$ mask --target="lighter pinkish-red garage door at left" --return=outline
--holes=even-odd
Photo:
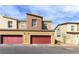
[[[11,35],[11,36],[3,36],[3,44],[21,44],[22,36],[20,35]]]

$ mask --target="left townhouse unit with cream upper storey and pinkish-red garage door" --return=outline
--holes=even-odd
[[[0,15],[0,43],[22,43],[22,33],[18,34],[18,20]]]

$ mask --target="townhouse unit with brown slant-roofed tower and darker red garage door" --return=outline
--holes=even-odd
[[[43,21],[43,17],[27,13],[26,26],[31,44],[54,44],[54,32],[51,21]],[[27,33],[26,33],[27,34]]]

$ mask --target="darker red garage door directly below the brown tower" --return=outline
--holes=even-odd
[[[32,44],[50,44],[51,36],[31,36]]]

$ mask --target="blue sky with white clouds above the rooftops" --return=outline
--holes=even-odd
[[[52,27],[64,22],[79,22],[77,5],[0,5],[0,14],[26,20],[26,13],[34,13],[51,20]]]

